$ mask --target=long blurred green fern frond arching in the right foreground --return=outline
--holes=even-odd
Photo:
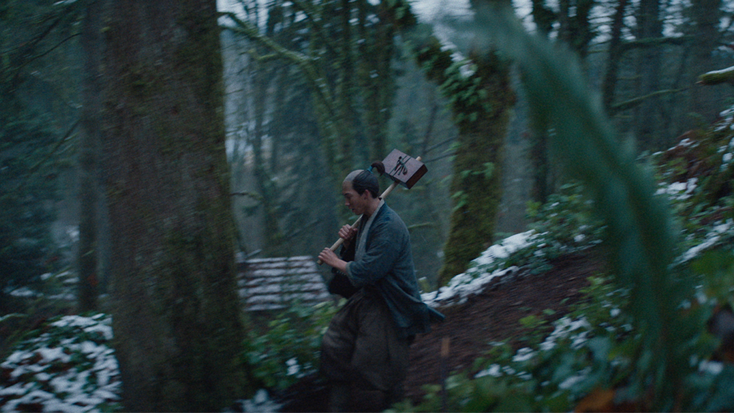
[[[694,279],[669,271],[679,233],[669,205],[654,195],[650,170],[617,139],[570,51],[528,35],[512,10],[498,4],[477,7],[476,24],[517,62],[534,126],[551,132],[552,150],[584,183],[606,223],[616,280],[630,291],[629,312],[642,337],[628,398],[644,401],[644,409],[674,409],[686,397],[684,378],[695,370],[690,357],[702,323],[699,312],[680,312],[694,295]]]

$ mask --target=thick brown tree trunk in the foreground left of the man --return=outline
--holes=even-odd
[[[131,412],[246,390],[214,0],[111,5],[104,145],[112,313]]]

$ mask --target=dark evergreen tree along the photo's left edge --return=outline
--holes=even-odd
[[[8,293],[40,287],[62,260],[51,237],[57,178],[76,130],[62,96],[76,4],[0,4],[0,310],[21,308]],[[65,67],[66,65],[63,65]],[[68,76],[69,77],[73,76]]]

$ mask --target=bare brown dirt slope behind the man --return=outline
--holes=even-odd
[[[601,273],[606,262],[596,254],[586,253],[564,256],[552,265],[551,270],[539,275],[519,271],[509,280],[495,278],[465,303],[437,308],[446,315],[446,320],[434,324],[430,333],[416,337],[413,342],[405,381],[406,397],[414,404],[420,403],[425,395],[424,386],[440,384],[442,376],[448,373],[471,369],[474,360],[485,356],[494,347],[493,343],[507,342],[517,350],[526,347],[531,335],[550,334],[551,322],[570,312],[571,306],[584,298],[581,290],[589,285],[588,278]],[[520,323],[528,315],[548,323],[528,330]],[[442,342],[446,338],[448,356],[442,357]],[[308,383],[301,385],[307,387]],[[290,400],[283,406],[283,412],[323,411],[320,406],[323,392],[292,390],[296,391],[286,396]]]

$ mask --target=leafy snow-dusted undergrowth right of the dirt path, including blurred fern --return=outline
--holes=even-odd
[[[476,262],[487,267],[473,272],[522,262],[542,271],[546,257],[597,241],[610,251],[611,272],[591,280],[589,300],[556,320],[545,341],[517,353],[498,346],[473,370],[451,375],[445,393],[429,388],[423,403],[396,410],[733,409],[734,368],[712,361],[719,339],[706,328],[734,287],[733,121],[701,132],[678,153],[636,162],[579,80],[573,56],[528,35],[509,10],[479,9],[481,27],[469,30],[490,32],[516,60],[535,126],[553,131],[551,147],[581,186],[531,205],[536,233],[511,257]],[[686,147],[695,156],[686,157]],[[688,175],[696,170],[689,162],[701,166],[697,175]],[[578,213],[586,210],[593,214]],[[577,237],[575,229],[586,233]]]

